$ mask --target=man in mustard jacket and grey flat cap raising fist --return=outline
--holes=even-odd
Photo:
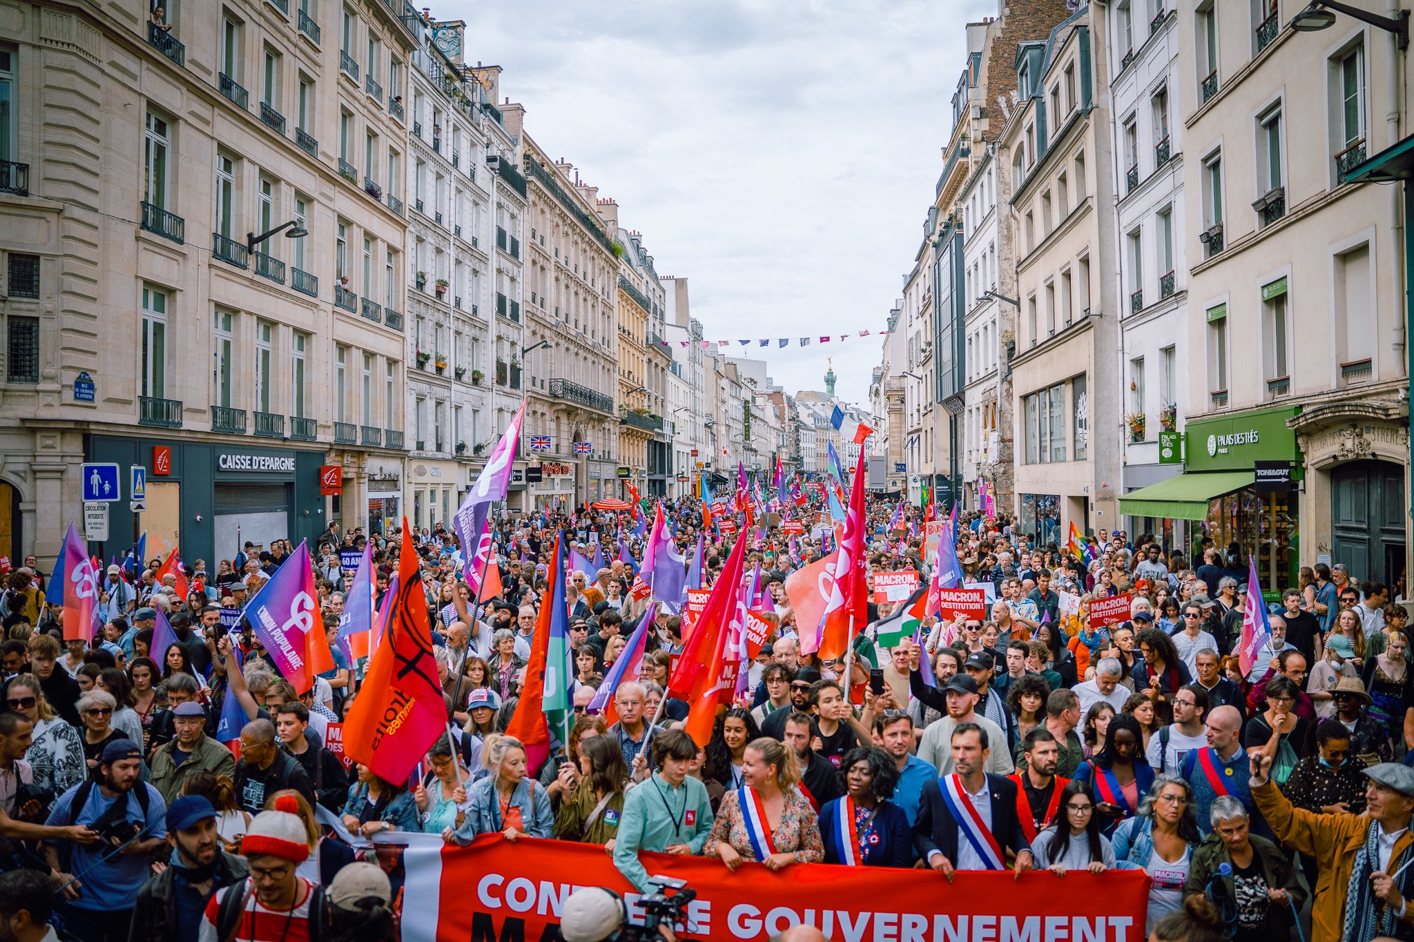
[[[1295,808],[1271,781],[1273,756],[1250,757],[1251,797],[1277,840],[1315,857],[1311,938],[1370,942],[1414,929],[1414,768],[1380,763],[1365,770],[1366,813],[1319,815]]]

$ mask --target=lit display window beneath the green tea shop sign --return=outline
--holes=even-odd
[[[1257,579],[1268,602],[1280,602],[1281,590],[1297,585],[1299,532],[1290,493],[1258,494],[1244,487],[1208,501],[1208,518],[1195,541],[1209,537],[1226,551],[1236,542],[1246,568],[1249,554],[1257,554]],[[1202,548],[1192,548],[1192,559],[1202,559]]]

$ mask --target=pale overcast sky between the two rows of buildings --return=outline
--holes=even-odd
[[[424,0],[426,1],[426,0]],[[417,6],[423,6],[419,1]],[[566,158],[659,274],[689,278],[707,339],[754,340],[788,391],[865,401],[942,171],[963,24],[995,0],[441,0],[468,62]],[[820,345],[819,336],[836,336]],[[797,339],[813,342],[799,347]],[[769,336],[762,350],[755,339]],[[792,343],[779,349],[775,338]]]

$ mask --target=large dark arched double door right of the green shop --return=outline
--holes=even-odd
[[[1394,585],[1404,569],[1404,514],[1400,465],[1342,465],[1331,475],[1331,561],[1357,582]]]

